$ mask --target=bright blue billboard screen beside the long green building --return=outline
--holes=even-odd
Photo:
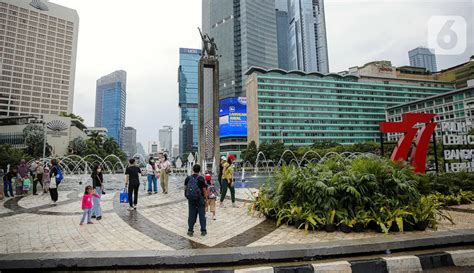
[[[247,137],[247,99],[227,98],[219,101],[220,137]]]

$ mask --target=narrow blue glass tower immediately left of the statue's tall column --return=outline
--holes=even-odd
[[[198,62],[200,49],[179,49],[179,154],[198,150]]]

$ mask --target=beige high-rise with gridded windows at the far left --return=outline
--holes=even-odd
[[[0,116],[71,113],[79,16],[46,0],[0,0]]]

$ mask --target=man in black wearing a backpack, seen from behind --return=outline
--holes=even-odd
[[[188,199],[188,236],[194,234],[194,224],[199,215],[199,224],[201,225],[201,236],[206,236],[206,203],[207,203],[207,185],[204,177],[199,175],[201,166],[193,166],[193,175],[186,177],[184,181],[184,195]]]

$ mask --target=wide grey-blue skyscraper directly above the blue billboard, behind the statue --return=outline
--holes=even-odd
[[[278,66],[275,0],[203,0],[202,28],[221,55],[221,99],[245,96],[251,66]]]

